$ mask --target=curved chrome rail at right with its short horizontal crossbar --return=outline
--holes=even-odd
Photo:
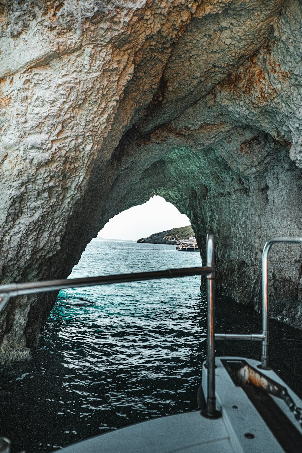
[[[262,341],[261,366],[268,369],[268,252],[273,244],[302,244],[302,237],[274,237],[264,245],[262,253],[262,333],[216,333],[215,340]]]

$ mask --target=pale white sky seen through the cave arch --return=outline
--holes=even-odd
[[[188,217],[181,214],[173,204],[156,195],[146,203],[130,207],[114,216],[98,236],[137,241],[159,231],[186,225],[190,225]]]

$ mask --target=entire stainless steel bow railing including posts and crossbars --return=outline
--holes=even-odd
[[[262,333],[237,334],[215,333],[215,253],[214,237],[208,234],[206,237],[206,266],[188,267],[180,269],[156,270],[152,272],[136,272],[129,274],[105,275],[96,277],[84,277],[77,279],[46,280],[32,283],[13,283],[0,285],[0,313],[5,308],[9,299],[24,294],[59,291],[67,288],[85,286],[97,286],[103,284],[126,283],[142,280],[155,280],[163,278],[179,278],[190,275],[206,275],[206,299],[207,299],[207,407],[202,414],[206,417],[217,418],[221,414],[216,410],[215,395],[215,340],[255,340],[262,341],[261,364],[268,368],[268,252],[275,243],[302,244],[302,237],[280,237],[268,241],[262,254]]]

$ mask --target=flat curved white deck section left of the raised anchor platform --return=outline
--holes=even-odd
[[[214,442],[213,442],[213,439]],[[234,453],[222,419],[200,411],[127,426],[63,448],[64,453]]]

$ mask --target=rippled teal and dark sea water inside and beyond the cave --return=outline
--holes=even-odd
[[[92,241],[72,277],[201,265],[175,246]],[[1,434],[14,452],[49,452],[152,417],[196,409],[205,357],[206,300],[199,277],[60,292],[40,349],[2,370]],[[217,300],[217,330],[260,331],[260,317]],[[301,331],[271,323],[275,370],[301,392]],[[219,354],[259,359],[259,345],[227,343]]]

